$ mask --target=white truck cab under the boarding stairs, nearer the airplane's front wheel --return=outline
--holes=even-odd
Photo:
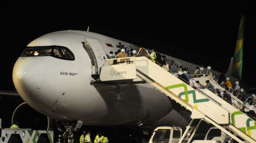
[[[157,127],[149,143],[178,143],[181,137],[182,128],[180,127]]]

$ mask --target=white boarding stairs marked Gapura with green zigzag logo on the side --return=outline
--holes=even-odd
[[[243,141],[229,130],[249,143],[256,143],[256,122],[209,89],[194,89],[147,57],[121,59],[127,59],[127,63],[112,64],[116,59],[105,61],[100,72],[101,81],[143,79],[191,111],[192,119],[212,123],[239,143]]]

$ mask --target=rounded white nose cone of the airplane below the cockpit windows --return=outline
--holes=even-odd
[[[19,57],[13,67],[13,83],[20,95],[40,89],[45,82],[46,71],[43,61],[37,57]]]

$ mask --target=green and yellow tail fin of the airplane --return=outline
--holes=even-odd
[[[243,68],[243,36],[245,31],[245,15],[241,14],[241,20],[238,30],[238,36],[236,40],[236,49],[234,53],[234,59],[231,58],[231,64],[232,71],[231,71],[231,65],[229,66],[229,70],[227,71],[227,74],[231,73],[233,77],[236,77],[238,79],[242,79],[242,68]]]

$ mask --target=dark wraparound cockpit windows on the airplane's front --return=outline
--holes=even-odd
[[[35,46],[26,48],[22,57],[52,56],[58,59],[74,60],[74,54],[64,46]]]

